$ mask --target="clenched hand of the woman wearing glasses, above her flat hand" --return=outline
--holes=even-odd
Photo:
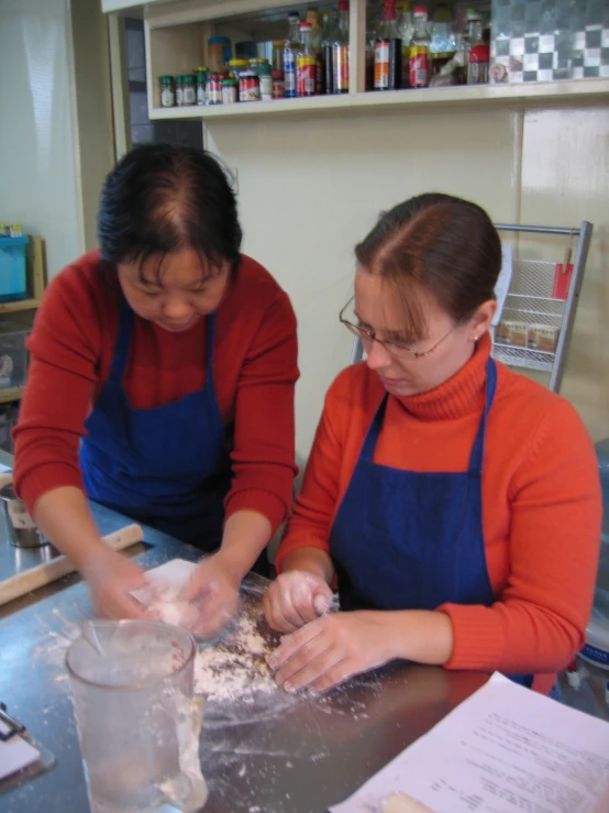
[[[324,580],[303,570],[280,573],[265,593],[263,605],[273,629],[292,633],[328,613],[332,591]]]

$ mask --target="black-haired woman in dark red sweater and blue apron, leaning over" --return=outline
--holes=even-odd
[[[52,281],[36,316],[15,485],[103,615],[143,616],[144,579],[102,545],[87,497],[217,551],[189,585],[201,631],[265,572],[289,512],[296,319],[241,239],[210,154],[135,149],[106,180],[100,250]]]

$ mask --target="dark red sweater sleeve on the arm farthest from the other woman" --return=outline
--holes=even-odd
[[[14,482],[27,509],[46,492],[82,488],[78,464],[99,381],[100,320],[95,297],[68,267],[52,281],[30,337],[30,370],[14,430]]]

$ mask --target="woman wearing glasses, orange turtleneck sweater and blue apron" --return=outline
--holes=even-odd
[[[367,359],[328,393],[265,598],[290,633],[277,682],[323,691],[402,658],[550,692],[591,606],[591,441],[566,400],[490,358],[501,249],[479,207],[412,198],[355,253],[341,321]],[[334,584],[352,612],[328,614]]]

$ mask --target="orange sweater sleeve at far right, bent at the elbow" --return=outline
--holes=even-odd
[[[439,607],[453,623],[449,669],[555,672],[584,645],[601,498],[593,443],[567,402],[542,417],[509,497],[510,573],[502,594],[490,607]]]

